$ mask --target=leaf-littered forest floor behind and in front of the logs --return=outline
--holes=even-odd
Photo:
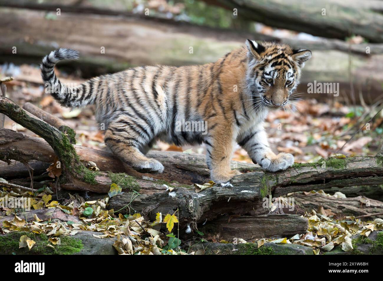
[[[11,72],[11,75],[15,77],[15,80],[7,84],[7,97],[20,105],[25,104],[25,102],[31,102],[46,112],[64,119],[65,122],[76,131],[77,145],[87,146],[93,149],[103,149],[105,147],[103,143],[103,132],[100,130],[100,125],[95,121],[92,107],[74,110],[61,107],[50,95],[44,93],[44,88],[41,84],[40,71],[36,66],[22,65],[21,67],[13,68],[8,66],[7,71],[8,73]],[[0,73],[1,72],[2,69],[0,69]],[[65,76],[65,73],[59,73],[59,71],[57,71],[57,73],[59,77],[62,77],[61,80],[63,82],[80,83],[83,81],[80,76]],[[362,156],[376,155],[376,153],[383,148],[383,115],[380,112],[372,121],[368,122],[370,117],[375,114],[376,110],[376,108],[369,106],[350,106],[331,100],[328,102],[318,102],[314,99],[305,98],[296,100],[296,106],[291,110],[271,111],[266,119],[265,127],[273,151],[292,153],[295,156],[295,162],[298,163],[315,162],[321,158],[327,158],[336,153]],[[367,126],[357,132],[360,127],[366,124],[366,122],[368,122]],[[21,127],[8,117],[5,118],[4,127],[16,130],[25,135],[35,136],[33,132]],[[157,143],[157,145],[154,146],[154,149],[205,154],[204,146],[184,146],[181,148],[165,143]],[[251,163],[251,159],[247,156],[246,151],[239,146],[236,148],[233,160]],[[176,214],[167,214],[166,216],[164,214],[163,221],[162,217],[159,218],[159,221],[167,224],[167,229],[170,232],[165,237],[163,235],[161,236],[159,231],[149,227],[155,226],[156,222],[145,222],[144,218],[139,214],[134,214],[132,216],[122,216],[120,214],[117,216],[117,214],[112,213],[112,215],[115,216],[114,221],[116,225],[114,226],[115,229],[110,229],[100,223],[100,221],[103,222],[105,217],[110,215],[108,214],[108,211],[105,213],[105,206],[108,202],[108,198],[100,199],[98,201],[96,199],[93,200],[93,198],[85,198],[87,200],[93,200],[85,201],[84,198],[79,195],[71,195],[70,200],[64,200],[65,202],[63,201],[59,203],[52,200],[52,195],[50,194],[50,190],[48,190],[40,190],[38,196],[41,197],[41,199],[35,202],[36,208],[34,209],[58,208],[64,211],[65,214],[70,213],[70,215],[74,215],[75,219],[67,219],[66,226],[70,226],[69,228],[62,228],[62,225],[57,223],[39,225],[36,223],[40,220],[37,215],[34,217],[35,221],[20,219],[17,216],[15,218],[12,217],[4,220],[3,226],[8,227],[8,230],[17,229],[19,231],[33,231],[34,229],[33,232],[35,234],[45,233],[47,236],[44,239],[47,241],[43,239],[43,242],[37,241],[37,243],[48,243],[53,248],[58,247],[61,243],[57,242],[58,234],[75,235],[81,230],[89,230],[103,232],[103,234],[93,234],[93,237],[96,239],[116,236],[117,240],[114,243],[114,247],[118,253],[205,253],[205,250],[207,253],[206,247],[202,249],[197,247],[198,249],[196,248],[195,250],[189,248],[188,251],[183,252],[175,250],[177,248],[177,243],[180,242],[172,233],[173,227],[175,227],[174,223],[177,223]],[[307,194],[309,194],[309,192],[307,192]],[[321,192],[321,194],[323,194],[323,196],[334,196],[324,192]],[[344,195],[338,192],[335,196],[342,197]],[[70,201],[74,202],[74,205],[73,203],[70,203]],[[363,200],[361,201],[361,204],[363,204]],[[70,208],[68,208],[69,205],[71,205]],[[94,211],[93,214],[90,214],[92,219],[90,219],[90,217],[83,218],[82,214],[84,214],[84,212],[86,214],[90,209]],[[74,212],[73,210],[77,211]],[[9,210],[3,209],[2,216],[10,214],[11,212]],[[270,246],[271,242],[272,244],[304,245],[306,247],[311,247],[314,254],[319,254],[325,251],[330,251],[337,245],[340,245],[337,249],[341,248],[343,251],[352,250],[352,246],[354,245],[355,248],[355,243],[360,240],[360,237],[358,237],[359,240],[355,240],[355,242],[352,242],[351,239],[345,237],[350,238],[357,233],[364,234],[364,236],[367,237],[371,232],[383,229],[383,221],[381,219],[362,221],[360,219],[355,219],[355,217],[342,216],[342,214],[333,213],[331,210],[325,210],[324,208],[308,210],[304,214],[304,217],[308,218],[309,222],[309,228],[305,234],[297,233],[291,238],[265,238],[252,241],[244,241],[241,237],[237,237],[236,242],[239,244],[242,242],[256,242],[257,249],[251,250],[251,253],[264,253],[257,252],[262,245],[268,245],[268,250],[271,249],[270,251],[278,252],[277,249]],[[132,248],[132,242],[116,235],[117,233],[124,232],[124,226],[126,226],[127,221],[130,222],[130,229],[134,232],[133,237],[141,241],[141,236],[150,234],[152,239],[149,239],[150,241],[147,240],[149,242],[139,242],[138,244],[141,246]],[[349,223],[347,223],[347,221]],[[353,223],[350,223],[350,221]],[[79,222],[88,223],[88,226],[84,228],[83,226],[80,226]],[[56,229],[54,231],[55,233],[52,233],[52,229]],[[177,230],[174,228],[173,232],[174,231]],[[7,233],[7,231],[5,233]],[[34,243],[36,243],[35,240],[39,240],[33,240],[33,237],[22,234],[23,232],[20,232],[20,237],[18,237],[20,241],[18,241],[18,243],[20,242],[20,245],[25,247],[25,249],[26,247],[30,247],[29,249],[33,248]],[[160,236],[157,237],[157,235]],[[203,236],[203,233],[198,232],[198,235]],[[377,239],[381,240],[381,233],[379,233],[379,235],[380,236]],[[155,241],[153,241],[153,239],[155,239]],[[200,239],[201,244],[206,243],[207,241],[220,242],[221,244],[227,244],[229,242],[221,239],[219,234],[216,236],[203,236],[198,239]],[[1,243],[2,240],[0,239],[0,244]],[[148,243],[151,245],[149,248],[147,247]],[[359,241],[359,243],[361,242]],[[372,244],[376,246],[377,242],[374,243],[375,242]],[[162,252],[164,250],[160,252],[159,250],[161,249],[157,248],[155,245],[162,245],[164,247],[161,247],[161,249],[167,250],[165,250],[165,252]],[[167,248],[165,248],[166,246]],[[75,249],[74,252],[79,252],[76,250],[76,247],[77,246],[72,247]],[[142,247],[142,249],[140,247]],[[379,247],[381,247],[381,245]],[[37,246],[35,249],[37,249]],[[221,250],[222,249],[215,249],[214,253],[217,253],[217,251],[220,252]],[[241,249],[233,248],[232,251],[235,252],[237,250]]]

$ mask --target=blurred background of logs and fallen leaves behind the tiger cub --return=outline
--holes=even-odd
[[[313,57],[296,106],[268,115],[274,151],[296,162],[337,151],[372,155],[383,144],[382,11],[379,0],[0,0],[0,75],[15,78],[7,83],[13,101],[65,119],[77,144],[102,149],[92,107],[70,111],[44,93],[38,64],[51,50],[80,51],[80,60],[56,70],[61,81],[80,83],[139,65],[213,62],[247,38],[286,43]],[[323,83],[333,88],[316,87]],[[5,128],[34,135],[7,117]],[[164,143],[155,149],[205,152]],[[251,162],[239,147],[234,159]]]

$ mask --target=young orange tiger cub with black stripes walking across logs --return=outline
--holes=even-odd
[[[145,156],[157,140],[178,146],[205,143],[211,179],[226,183],[241,174],[230,168],[235,142],[266,171],[293,164],[293,155],[270,149],[263,123],[269,109],[289,103],[310,57],[309,50],[247,40],[214,63],[129,68],[70,89],[56,77],[54,65],[77,59],[78,52],[61,48],[43,58],[41,75],[62,106],[95,104],[106,146],[137,171],[164,171],[159,161]],[[206,124],[205,130],[191,130],[193,122]]]

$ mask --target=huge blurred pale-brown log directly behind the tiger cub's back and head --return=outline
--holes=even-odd
[[[5,7],[15,6],[9,1],[2,3]],[[350,45],[337,39],[296,41],[201,27],[121,11],[106,13],[105,9],[46,5],[36,4],[36,10],[0,8],[0,24],[7,26],[0,37],[0,61],[37,64],[51,50],[70,47],[80,51],[80,60],[62,62],[61,67],[70,64],[82,68],[85,75],[93,76],[137,65],[213,62],[243,45],[246,38],[252,38],[287,43],[313,51],[313,57],[303,69],[301,84],[297,89],[299,93],[306,93],[308,83],[317,81],[339,83],[339,97],[333,97],[332,93],[310,93],[307,96],[342,99],[351,93],[350,84],[363,93],[367,103],[373,102],[381,94],[383,78],[378,73],[383,64],[380,55],[383,44]],[[46,11],[55,12],[59,6],[62,8],[60,16],[56,16],[55,20],[46,17]],[[70,32],[74,27],[76,32]],[[36,41],[39,44],[34,44]],[[13,46],[17,47],[16,55],[11,54]],[[101,47],[105,47],[105,54],[100,54]],[[189,47],[193,47],[193,54],[189,54]],[[369,47],[370,54],[366,54],[366,47]],[[358,101],[359,96],[355,96]]]

